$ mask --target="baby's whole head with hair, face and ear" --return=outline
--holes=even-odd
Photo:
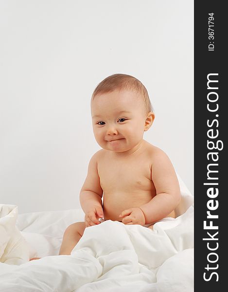
[[[111,75],[98,84],[91,115],[97,143],[115,152],[137,148],[155,117],[144,85],[126,74]]]

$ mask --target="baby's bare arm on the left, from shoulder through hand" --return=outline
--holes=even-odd
[[[99,152],[99,151],[98,151]],[[95,153],[88,164],[87,178],[80,192],[80,203],[85,212],[86,227],[99,224],[97,218],[103,217],[102,196],[103,190],[100,185],[100,178],[97,171],[98,152]]]

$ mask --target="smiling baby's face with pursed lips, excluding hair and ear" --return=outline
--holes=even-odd
[[[94,136],[102,148],[123,152],[142,141],[146,114],[136,92],[116,90],[95,96],[91,115]]]

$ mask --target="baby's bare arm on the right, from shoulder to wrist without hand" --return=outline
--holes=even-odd
[[[153,153],[151,179],[156,188],[156,196],[140,206],[145,224],[167,217],[180,201],[180,188],[175,169],[169,157],[159,148]]]

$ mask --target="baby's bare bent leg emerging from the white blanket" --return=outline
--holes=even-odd
[[[83,236],[85,228],[86,228],[85,222],[76,222],[68,226],[68,228],[64,232],[59,255],[70,255],[74,246]]]

